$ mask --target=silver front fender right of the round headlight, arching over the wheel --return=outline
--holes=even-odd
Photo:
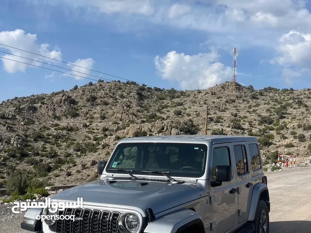
[[[199,224],[202,232],[205,232],[202,218],[198,213],[188,209],[181,210],[148,223],[144,233],[179,233],[194,224]]]

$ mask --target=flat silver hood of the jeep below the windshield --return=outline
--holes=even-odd
[[[167,184],[130,179],[113,182],[97,180],[75,186],[54,195],[52,199],[77,201],[78,198],[83,198],[83,203],[91,202],[92,205],[118,205],[122,208],[139,208],[142,211],[152,208],[157,214],[196,200],[201,197],[200,193],[203,191],[202,186],[196,183]]]

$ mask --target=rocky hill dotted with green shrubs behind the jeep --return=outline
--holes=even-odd
[[[107,159],[121,138],[204,134],[199,104],[213,104],[207,134],[254,135],[265,164],[276,162],[277,152],[295,154],[305,164],[310,94],[231,82],[176,91],[116,81],[6,100],[0,104],[0,186],[20,169],[53,184],[95,179],[97,161]]]

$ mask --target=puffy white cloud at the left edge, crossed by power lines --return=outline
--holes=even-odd
[[[57,60],[62,59],[61,58],[62,54],[59,49],[49,50],[48,49],[50,46],[49,44],[37,44],[36,40],[37,40],[36,34],[31,34],[31,33],[26,34],[25,31],[20,30],[20,29],[16,29],[14,31],[0,32],[0,43],[1,44],[15,47],[21,50],[26,50],[26,51],[30,51],[33,53],[37,53],[37,54],[50,57],[53,59],[57,59]],[[2,46],[2,45],[0,45],[0,49],[9,50],[11,54],[22,56],[22,57],[27,57],[27,58],[40,61],[40,62],[53,62],[52,60],[48,58],[37,56],[35,54],[27,53],[24,51],[12,49],[12,48]],[[4,58],[11,59],[11,60],[20,61],[20,62],[32,64],[35,66],[41,66],[41,64],[38,62],[31,61],[31,60],[24,59],[24,58],[19,58],[17,56],[8,55],[8,54],[6,55],[1,54],[1,56]],[[26,68],[33,67],[33,66],[26,65],[26,64],[2,59],[2,58],[1,60],[3,62],[4,70],[8,73],[15,73],[17,71],[25,72]]]

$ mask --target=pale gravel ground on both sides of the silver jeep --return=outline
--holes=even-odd
[[[311,167],[266,172],[271,202],[270,233],[311,232]],[[0,205],[0,233],[30,233],[20,229],[23,216],[12,205]]]

